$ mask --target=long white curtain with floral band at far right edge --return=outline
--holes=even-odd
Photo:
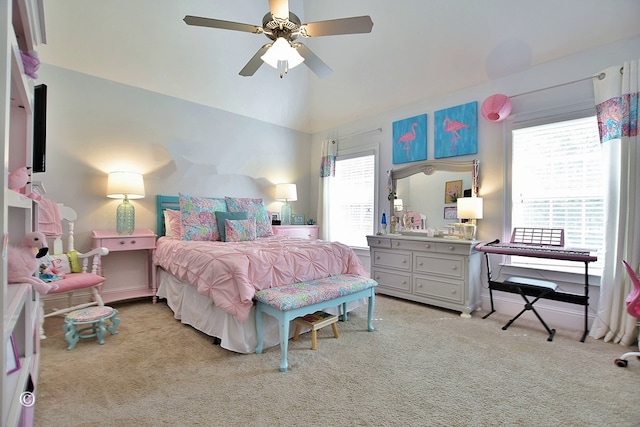
[[[638,151],[639,61],[610,67],[594,78],[594,94],[603,161],[609,169],[605,197],[604,269],[593,338],[631,345],[636,319],[626,311],[632,288],[622,260],[640,264],[640,157]]]

